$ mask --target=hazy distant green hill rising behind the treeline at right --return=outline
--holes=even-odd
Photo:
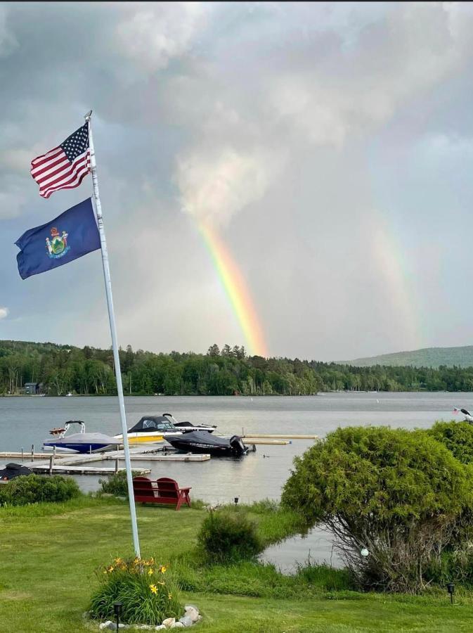
[[[426,347],[413,352],[396,352],[381,354],[370,358],[356,358],[351,361],[340,361],[339,364],[356,367],[384,365],[389,367],[473,367],[473,345],[465,347]]]

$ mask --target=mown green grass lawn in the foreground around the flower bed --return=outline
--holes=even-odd
[[[193,548],[205,516],[202,509],[137,510],[142,556],[171,567],[174,557]],[[0,509],[0,632],[98,630],[82,619],[96,586],[94,570],[111,556],[133,554],[130,532],[128,506],[115,499]],[[205,588],[184,594],[205,616],[196,628],[202,632],[473,630],[473,598],[466,594],[451,607],[443,593],[415,598],[313,589],[311,596],[285,599],[268,597],[271,592],[261,598]]]

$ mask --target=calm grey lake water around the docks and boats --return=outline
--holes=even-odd
[[[171,412],[179,421],[215,424],[221,435],[235,433],[316,434],[324,437],[338,426],[387,425],[426,428],[436,420],[451,420],[453,407],[469,409],[471,393],[328,393],[308,397],[127,397],[128,427],[141,416]],[[462,419],[462,416],[458,417]],[[0,398],[0,451],[39,452],[48,432],[67,420],[83,420],[87,431],[121,432],[117,399],[113,397]],[[152,462],[151,477],[171,477],[192,486],[191,497],[211,503],[279,499],[294,456],[311,445],[257,446],[242,459],[211,459],[201,463]],[[4,460],[5,461],[5,460]],[[12,461],[8,459],[6,461]],[[0,459],[0,464],[1,464]],[[139,464],[134,462],[136,466]],[[149,466],[144,464],[143,466]],[[77,478],[84,490],[95,490],[98,477]],[[325,532],[313,530],[266,551],[266,560],[289,570],[294,561],[337,563]]]

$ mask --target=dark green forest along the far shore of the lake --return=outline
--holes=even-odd
[[[473,367],[367,366],[247,355],[119,351],[125,395],[315,395],[328,391],[473,391]],[[37,383],[46,395],[117,393],[112,350],[0,341],[0,395]]]

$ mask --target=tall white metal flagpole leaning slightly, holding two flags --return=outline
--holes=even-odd
[[[120,359],[118,355],[118,345],[117,345],[117,327],[115,326],[115,312],[113,311],[112,281],[110,279],[110,267],[108,265],[108,250],[107,250],[107,242],[105,241],[105,229],[103,227],[101,199],[100,199],[100,196],[98,195],[97,166],[96,166],[96,155],[95,155],[95,151],[93,150],[91,116],[92,116],[92,110],[85,115],[85,120],[89,127],[89,148],[90,148],[90,156],[91,156],[93,198],[95,198],[95,201],[96,201],[98,233],[100,234],[100,237],[101,237],[103,276],[105,279],[105,294],[107,295],[107,307],[108,307],[108,319],[110,321],[110,333],[112,334],[113,360],[115,362],[115,376],[117,378],[118,404],[119,404],[119,409],[120,409],[120,418],[122,420],[123,447],[124,447],[124,452],[125,452],[125,467],[127,469],[128,500],[130,504],[131,529],[133,531],[133,544],[134,544],[134,549],[135,549],[135,555],[138,556],[138,558],[141,558],[140,543],[138,540],[138,526],[136,524],[136,509],[135,509],[135,499],[134,499],[134,494],[133,494],[133,478],[131,475],[130,451],[129,451],[128,435],[127,435],[127,415],[125,414],[125,402],[124,402],[124,397],[123,397],[123,385],[122,385],[122,371],[120,370]]]

